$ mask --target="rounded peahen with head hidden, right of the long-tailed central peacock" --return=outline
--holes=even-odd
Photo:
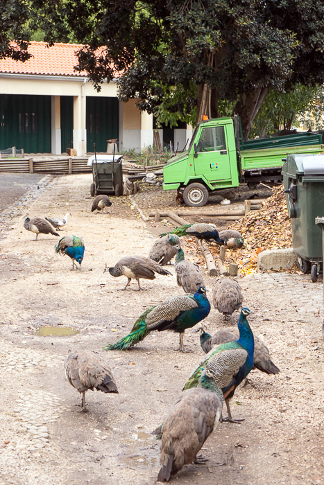
[[[241,287],[235,279],[218,278],[212,287],[212,302],[225,319],[242,306]]]

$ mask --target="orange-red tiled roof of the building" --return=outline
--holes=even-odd
[[[76,52],[81,44],[54,44],[32,41],[28,52],[33,57],[26,62],[9,58],[0,59],[0,73],[46,74],[52,76],[87,76],[85,72],[74,71],[78,63]]]

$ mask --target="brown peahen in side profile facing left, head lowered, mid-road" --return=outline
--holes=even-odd
[[[169,276],[171,274],[169,271],[164,270],[164,268],[151,258],[146,258],[145,256],[125,256],[124,258],[119,259],[117,263],[112,267],[105,267],[105,272],[108,270],[112,276],[119,277],[119,276],[127,276],[128,283],[123,288],[126,290],[130,281],[135,279],[138,283],[138,289],[141,290],[141,286],[139,285],[139,279],[155,279],[155,273],[162,274],[165,276]]]

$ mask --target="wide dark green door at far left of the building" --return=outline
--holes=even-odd
[[[0,150],[51,153],[51,96],[0,94]]]

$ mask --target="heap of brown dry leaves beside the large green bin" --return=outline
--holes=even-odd
[[[239,231],[244,238],[244,247],[226,252],[226,263],[237,263],[240,274],[257,272],[257,255],[264,249],[291,247],[291,220],[283,186],[273,190],[273,195],[262,203],[262,209],[249,212],[229,229]],[[214,256],[219,249],[210,247]]]

